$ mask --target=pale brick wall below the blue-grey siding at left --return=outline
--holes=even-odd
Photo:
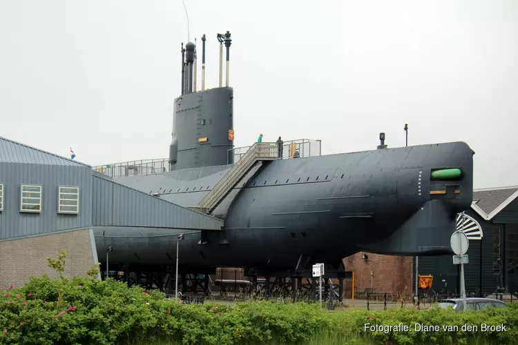
[[[47,266],[47,257],[57,259],[61,251],[67,255],[66,277],[84,276],[95,264],[88,229],[0,242],[0,289],[23,286],[31,276],[45,273],[59,277]]]

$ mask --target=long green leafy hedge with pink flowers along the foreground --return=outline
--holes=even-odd
[[[101,282],[98,266],[88,277],[66,279],[65,258],[64,253],[49,258],[60,279],[33,277],[1,293],[1,344],[517,344],[518,339],[518,304],[458,314],[440,308],[329,312],[305,303],[186,305],[113,279]],[[440,330],[373,332],[365,331],[365,324]],[[479,331],[463,331],[465,324]],[[506,331],[481,332],[481,324],[503,324]]]

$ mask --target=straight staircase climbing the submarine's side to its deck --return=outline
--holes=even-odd
[[[262,164],[263,161],[273,161],[277,159],[277,155],[278,147],[276,143],[253,144],[227,172],[227,175],[224,175],[209,194],[205,195],[200,204],[193,208],[204,213],[211,213],[256,164],[259,162]]]

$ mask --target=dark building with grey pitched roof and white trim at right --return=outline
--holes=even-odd
[[[518,186],[474,190],[466,212],[480,224],[481,236],[469,236],[466,293],[518,293]],[[432,290],[458,294],[459,272],[452,256],[420,257],[419,275],[433,275]]]

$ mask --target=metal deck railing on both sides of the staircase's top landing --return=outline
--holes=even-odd
[[[277,143],[273,143],[278,145]],[[231,148],[227,157],[233,157],[233,163],[237,163],[251,148],[251,146],[242,146],[239,148]],[[312,139],[296,139],[282,141],[282,154],[278,159],[291,159],[299,157],[314,157],[322,155],[322,141]],[[227,164],[230,164],[227,159]]]

